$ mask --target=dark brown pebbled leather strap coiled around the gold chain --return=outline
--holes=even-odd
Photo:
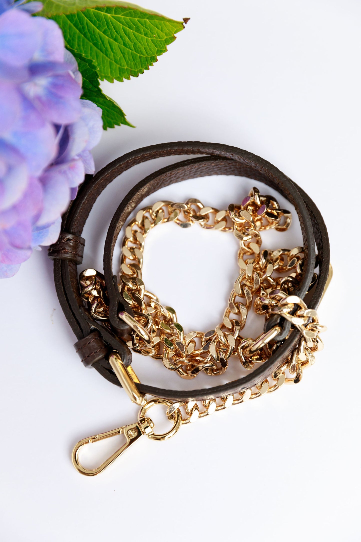
[[[329,240],[323,218],[312,199],[296,183],[293,183],[290,178],[279,171],[277,167],[266,162],[266,160],[237,147],[227,145],[197,141],[166,143],[138,149],[114,160],[93,178],[88,177],[86,182],[83,183],[76,199],[71,203],[67,214],[63,218],[63,229],[75,235],[81,235],[96,198],[111,180],[121,175],[129,167],[150,159],[181,154],[204,154],[206,156],[184,160],[162,168],[141,180],[124,197],[109,226],[104,246],[104,277],[110,299],[109,318],[114,332],[107,330],[106,333],[110,333],[113,344],[118,343],[122,346],[120,354],[126,364],[130,363],[132,354],[121,340],[121,336],[127,332],[127,329],[117,314],[122,307],[127,311],[129,311],[129,307],[121,298],[116,278],[113,276],[113,250],[122,225],[129,215],[143,198],[163,186],[207,175],[238,175],[259,180],[271,186],[294,205],[301,225],[305,259],[303,280],[297,294],[302,299],[306,296],[316,265],[316,247],[319,279],[316,287],[307,295],[307,305],[310,308],[317,308],[327,280],[330,257]],[[83,307],[78,287],[76,264],[71,261],[55,260],[54,277],[61,306],[78,339],[86,337],[96,327],[102,334],[103,339],[107,341],[104,337],[104,330],[101,329],[102,326],[91,321],[86,309]],[[269,376],[272,371],[284,363],[298,340],[299,333],[292,331],[290,337],[265,363],[247,376],[224,385],[201,390],[165,390],[147,384],[139,384],[138,387],[144,393],[180,401],[229,395],[229,393],[250,388]],[[111,346],[114,348],[113,344]],[[115,349],[119,350],[119,347]],[[106,358],[102,358],[93,366],[110,382],[120,385]]]

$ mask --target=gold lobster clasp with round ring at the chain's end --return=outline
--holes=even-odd
[[[119,457],[123,451],[127,450],[134,442],[136,442],[141,436],[146,435],[148,438],[152,440],[166,440],[167,438],[172,437],[175,435],[175,433],[178,431],[181,425],[181,412],[179,409],[176,409],[170,416],[168,416],[168,420],[173,420],[173,426],[172,428],[167,431],[167,433],[157,434],[154,433],[153,427],[154,423],[150,418],[146,417],[147,411],[152,408],[154,405],[166,405],[171,406],[172,402],[167,401],[166,399],[150,399],[150,401],[147,401],[142,408],[139,411],[138,414],[138,421],[136,423],[131,423],[129,425],[123,425],[123,427],[118,427],[117,429],[113,429],[111,431],[106,431],[106,433],[100,433],[98,435],[94,435],[91,437],[83,438],[81,441],[79,441],[77,444],[75,444],[75,447],[73,449],[73,453],[71,454],[71,461],[73,462],[73,465],[78,473],[84,474],[85,476],[95,476],[96,474],[99,474],[103,472],[104,469],[109,467],[113,461],[116,460],[117,457]],[[104,440],[104,438],[110,438],[114,437],[116,435],[124,435],[126,437],[126,442],[121,446],[118,450],[114,452],[113,455],[108,457],[106,461],[104,461],[99,467],[96,467],[94,469],[87,469],[82,466],[82,464],[79,461],[78,454],[80,452],[80,449],[85,446],[86,444],[91,444],[94,442],[99,442],[101,440]]]

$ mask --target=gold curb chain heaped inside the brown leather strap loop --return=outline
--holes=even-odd
[[[223,320],[206,333],[185,334],[174,309],[161,305],[142,281],[145,238],[155,225],[170,221],[182,228],[198,223],[206,229],[233,231],[240,243],[240,273],[229,295]],[[227,369],[232,354],[238,354],[246,369],[264,362],[269,352],[263,347],[252,349],[257,339],[242,338],[239,333],[246,323],[254,295],[255,312],[269,316],[268,309],[275,304],[272,292],[280,289],[291,293],[299,284],[302,247],[261,250],[261,230],[284,231],[290,224],[290,212],[280,209],[274,197],[261,196],[257,188],[251,190],[241,205],[229,205],[227,211],[205,207],[195,198],[186,203],[159,201],[138,211],[128,223],[122,242],[120,289],[133,308],[137,322],[137,333],[133,333],[128,346],[145,356],[162,359],[167,369],[187,379],[194,378],[200,371],[210,376],[220,375]],[[275,271],[287,272],[287,276],[274,277]],[[231,314],[236,318],[231,318]],[[131,326],[134,324],[127,315],[123,316]]]

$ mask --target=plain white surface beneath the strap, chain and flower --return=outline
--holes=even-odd
[[[149,72],[103,85],[137,128],[103,134],[94,151],[97,169],[137,147],[177,140],[239,146],[279,167],[311,195],[329,228],[334,278],[319,309],[329,328],[325,349],[298,386],[183,426],[165,443],[144,437],[103,474],[87,478],[71,465],[74,443],[132,423],[137,407],[80,363],[52,263],[45,250],[35,253],[0,283],[0,539],[360,540],[361,5],[144,0],[143,6],[191,21]],[[102,270],[106,230],[121,198],[170,161],[140,166],[106,189],[84,230],[82,268]],[[198,197],[222,209],[252,185],[198,179],[159,197]],[[265,237],[265,246],[300,241],[294,221],[288,233]],[[188,331],[206,331],[221,319],[237,273],[236,248],[231,235],[159,226],[147,239],[143,278]],[[237,376],[237,364],[228,376]],[[139,356],[134,368],[148,383],[215,384],[201,376],[181,380]]]

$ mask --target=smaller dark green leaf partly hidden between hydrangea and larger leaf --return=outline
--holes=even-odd
[[[104,130],[107,130],[107,128],[114,128],[114,126],[120,126],[121,124],[134,128],[133,124],[130,124],[130,122],[128,122],[126,119],[126,115],[123,113],[120,106],[114,100],[109,98],[109,96],[103,94],[93,62],[89,59],[85,59],[82,55],[76,53],[74,50],[70,49],[70,53],[75,56],[79,71],[82,74],[82,99],[90,100],[102,109]]]

